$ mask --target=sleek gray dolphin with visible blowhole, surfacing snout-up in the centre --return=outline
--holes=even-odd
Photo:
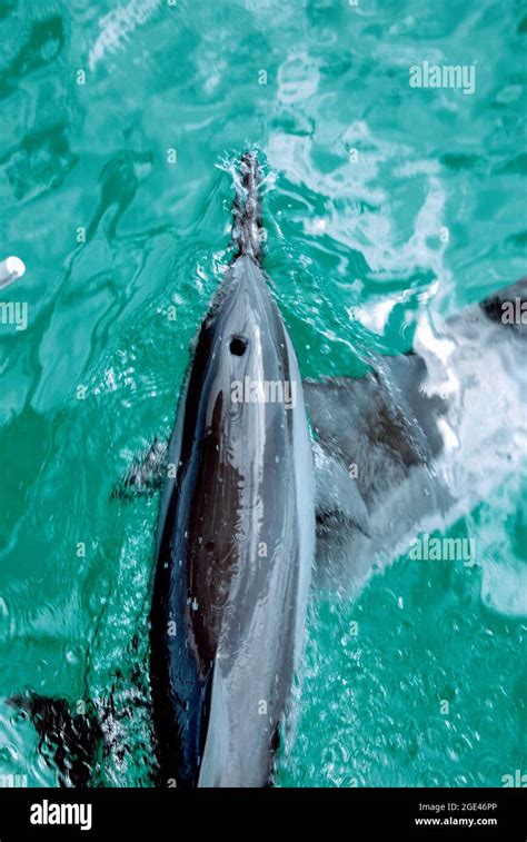
[[[160,781],[183,787],[269,783],[314,561],[312,450],[297,358],[260,265],[256,155],[243,156],[240,180],[238,252],[180,398],[158,531],[153,723]]]

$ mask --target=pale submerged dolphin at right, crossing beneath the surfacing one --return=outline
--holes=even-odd
[[[448,318],[419,315],[412,348],[362,378],[304,384],[324,459],[354,467],[366,529],[329,513],[317,585],[357,594],[421,533],[445,532],[527,454],[527,278]],[[466,558],[466,566],[476,558]]]

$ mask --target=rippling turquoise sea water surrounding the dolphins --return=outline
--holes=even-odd
[[[157,501],[111,492],[172,427],[230,259],[233,164],[259,149],[266,268],[302,374],[408,349],[418,308],[525,274],[527,4],[4,0],[0,17],[1,258],[27,265],[2,300],[29,307],[27,330],[0,326],[0,699],[113,691],[126,749],[101,782],[146,785],[148,716],[125,712]],[[475,66],[475,92],[410,88],[422,61]],[[401,557],[358,597],[314,594],[279,784],[525,770],[525,615],[507,597],[526,501],[510,476],[456,524],[484,548],[473,568]],[[0,772],[54,782],[6,705]]]

